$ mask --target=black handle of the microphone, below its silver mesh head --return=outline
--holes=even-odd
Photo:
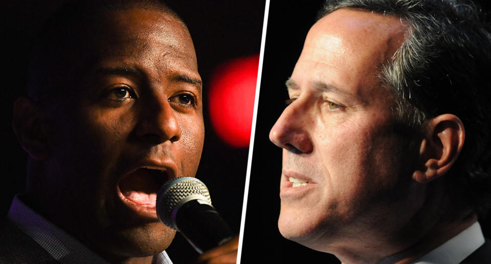
[[[188,201],[178,208],[174,223],[200,254],[232,238],[230,227],[215,208],[198,200]]]

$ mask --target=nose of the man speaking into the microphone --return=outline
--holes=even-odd
[[[166,98],[153,97],[142,104],[140,122],[136,134],[154,143],[171,142],[181,138],[181,127],[174,109]]]

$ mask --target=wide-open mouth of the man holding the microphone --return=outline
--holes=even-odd
[[[140,168],[119,181],[120,196],[137,206],[155,208],[157,192],[167,179],[165,170]]]

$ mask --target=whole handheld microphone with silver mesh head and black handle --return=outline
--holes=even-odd
[[[199,254],[232,238],[232,231],[211,205],[206,185],[192,177],[168,180],[157,194],[157,215],[187,239]]]

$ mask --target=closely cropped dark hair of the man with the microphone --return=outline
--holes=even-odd
[[[79,36],[67,32],[75,29],[95,30],[105,14],[130,8],[156,10],[171,15],[186,27],[183,19],[159,0],[69,0],[48,18],[34,41],[27,84],[29,97],[36,101],[53,98],[67,69],[77,63],[90,63],[91,58],[81,61],[66,58],[70,54],[83,53],[80,51],[83,47],[77,46]]]

